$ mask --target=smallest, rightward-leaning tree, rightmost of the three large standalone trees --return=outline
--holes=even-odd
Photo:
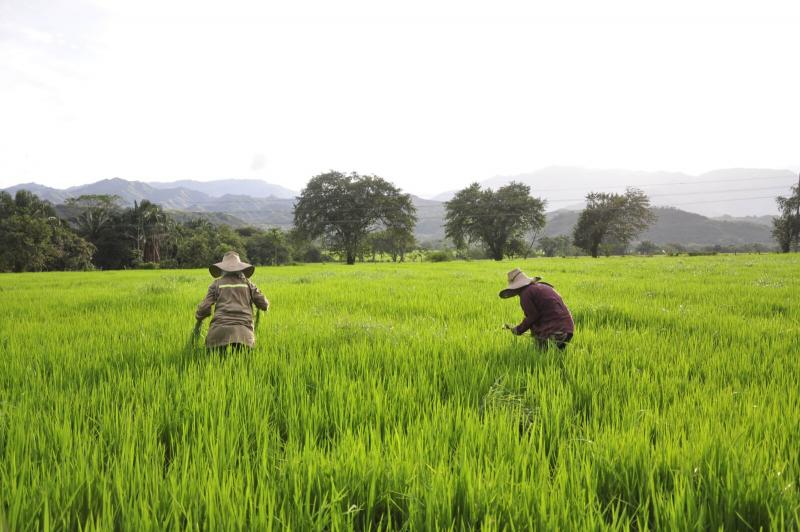
[[[597,257],[601,245],[627,246],[655,222],[650,199],[641,190],[629,188],[625,194],[591,192],[573,231],[575,245]]]

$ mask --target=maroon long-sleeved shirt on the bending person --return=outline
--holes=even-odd
[[[514,328],[517,334],[523,334],[530,329],[537,338],[547,338],[554,333],[575,331],[569,309],[549,284],[529,284],[520,292],[519,304],[525,313],[525,319]]]

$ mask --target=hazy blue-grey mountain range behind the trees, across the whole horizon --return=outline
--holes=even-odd
[[[590,191],[622,192],[636,186],[658,208],[659,221],[642,236],[656,242],[698,245],[771,243],[771,215],[777,213],[775,196],[786,194],[797,182],[789,170],[730,169],[691,176],[675,172],[592,170],[548,167],[528,174],[498,176],[481,184],[497,188],[511,181],[531,186],[534,195],[548,200],[545,234],[567,234]],[[466,186],[466,185],[465,185]],[[96,183],[55,189],[25,183],[5,189],[27,189],[54,204],[84,194],[115,194],[126,205],[150,200],[173,211],[179,219],[203,216],[216,223],[289,228],[296,191],[255,179],[174,182],[104,179]],[[413,197],[417,207],[417,238],[444,237],[444,204],[453,196],[444,192],[433,199]],[[719,219],[710,219],[718,217]]]

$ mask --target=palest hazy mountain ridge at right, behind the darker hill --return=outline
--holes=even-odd
[[[581,204],[589,192],[623,192],[626,186],[644,190],[654,206],[672,206],[704,216],[733,217],[777,214],[775,196],[797,182],[790,170],[732,168],[700,175],[680,172],[640,172],[551,166],[526,174],[497,176],[481,184],[498,188],[518,181],[557,210]],[[447,201],[455,191],[434,199]]]

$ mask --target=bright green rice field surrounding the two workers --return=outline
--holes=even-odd
[[[573,311],[501,331],[513,266]],[[0,530],[800,528],[800,256],[0,275]]]

